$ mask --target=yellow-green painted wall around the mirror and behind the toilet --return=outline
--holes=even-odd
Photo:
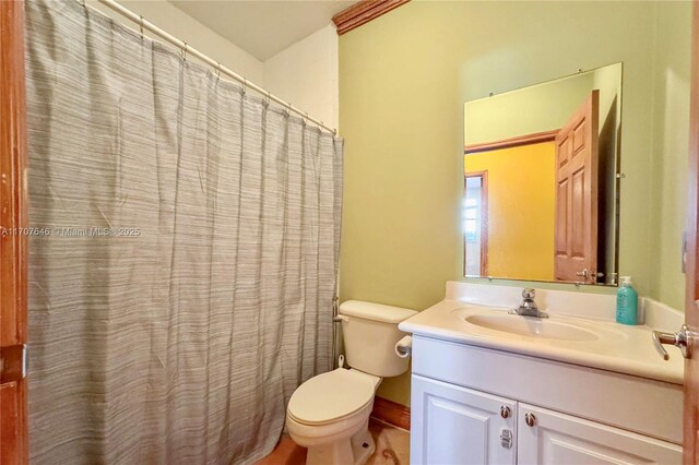
[[[674,141],[688,116],[672,109],[688,100],[690,13],[689,2],[414,0],[340,36],[341,299],[423,310],[462,279],[464,102],[623,61],[619,270],[641,294],[677,301],[679,286],[655,283],[667,276],[659,253],[667,270],[680,266],[686,153]],[[655,27],[659,14],[667,27]],[[654,112],[675,130],[660,152]],[[667,231],[653,237],[660,211]],[[407,405],[410,375],[386,379],[379,395]]]

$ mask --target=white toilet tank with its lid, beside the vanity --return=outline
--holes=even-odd
[[[340,306],[342,335],[350,367],[376,377],[396,377],[407,370],[408,358],[395,355],[395,343],[407,333],[398,324],[415,310],[347,300]]]

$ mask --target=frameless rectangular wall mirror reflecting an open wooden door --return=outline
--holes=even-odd
[[[464,274],[616,285],[621,63],[464,105]]]

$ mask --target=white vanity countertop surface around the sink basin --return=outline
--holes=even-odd
[[[587,341],[569,341],[514,334],[466,321],[474,315],[496,315],[496,319],[501,315],[523,319],[523,325],[538,324],[537,319],[507,314],[503,308],[447,299],[403,321],[399,327],[414,335],[683,384],[684,358],[679,349],[664,346],[670,360],[663,360],[653,346],[652,330],[645,325],[627,326],[605,320],[550,314],[548,321],[558,327],[574,326],[585,334],[594,334]]]

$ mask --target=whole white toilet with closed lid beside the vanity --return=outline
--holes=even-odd
[[[369,414],[382,378],[407,370],[395,354],[405,336],[398,324],[414,310],[347,300],[340,306],[350,370],[337,368],[306,381],[292,395],[286,426],[292,439],[308,448],[306,464],[359,465],[374,453]]]

